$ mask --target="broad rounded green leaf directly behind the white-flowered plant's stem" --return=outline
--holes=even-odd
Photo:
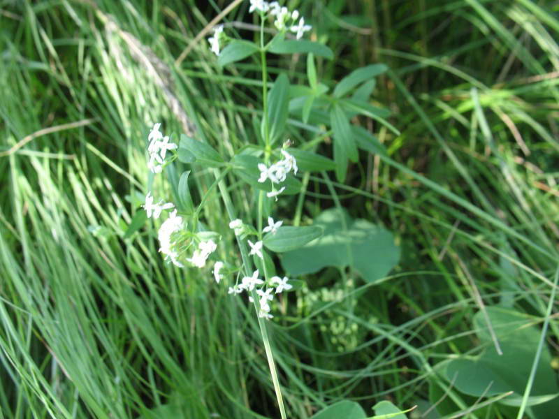
[[[319,239],[284,253],[282,265],[289,274],[310,274],[327,266],[352,266],[365,281],[374,282],[386,277],[400,260],[400,248],[392,233],[369,221],[352,220],[346,212],[332,209],[317,216],[314,226],[324,228]]]

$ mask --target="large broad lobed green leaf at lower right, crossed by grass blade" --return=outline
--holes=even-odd
[[[495,349],[486,317],[479,312],[474,316],[474,325],[486,350],[477,357],[451,360],[446,365],[445,374],[456,389],[467,395],[491,397],[512,390],[515,393],[510,400],[514,401],[521,398],[525,390],[541,331],[528,316],[516,311],[487,307],[486,314],[502,355]],[[559,392],[551,361],[549,348],[544,346],[530,393],[530,401],[534,403],[531,409],[537,418],[556,418],[559,411],[559,399],[545,402],[546,397]],[[502,403],[509,404],[504,399]]]

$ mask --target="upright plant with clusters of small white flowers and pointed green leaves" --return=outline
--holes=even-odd
[[[178,165],[189,165],[191,170],[206,168],[213,172],[215,182],[201,196],[197,207],[189,191],[188,177],[191,170],[185,170],[180,177],[172,177],[175,202],[164,203],[156,200],[158,194],[148,191],[145,196],[145,212],[148,217],[158,219],[168,212],[159,228],[159,251],[169,263],[182,269],[205,269],[213,265],[212,277],[218,286],[235,295],[247,294],[248,302],[254,305],[258,318],[266,356],[270,365],[277,402],[282,419],[286,418],[282,391],[275,368],[266,321],[274,318],[273,307],[277,296],[287,291],[295,291],[297,281],[276,274],[273,253],[293,251],[312,242],[322,234],[318,226],[300,226],[296,217],[293,226],[285,226],[284,220],[276,221],[273,216],[275,203],[283,196],[302,192],[303,179],[308,181],[308,173],[335,170],[339,180],[346,175],[348,159],[357,159],[357,149],[372,151],[374,142],[368,131],[351,126],[349,118],[361,114],[375,118],[389,125],[384,117],[386,112],[368,105],[372,91],[370,79],[384,71],[384,67],[369,66],[351,73],[328,95],[328,87],[319,83],[314,64],[315,57],[332,59],[333,52],[320,43],[303,39],[312,26],[298,10],[289,10],[277,1],[268,3],[250,0],[249,13],[260,20],[259,43],[228,38],[223,25],[214,28],[208,38],[209,49],[217,55],[219,66],[228,66],[253,55],[259,57],[262,82],[261,119],[254,116],[256,141],[224,156],[207,142],[192,136],[180,135],[180,141],[173,142],[161,133],[161,124],[154,124],[148,135],[149,154],[147,167],[153,175],[159,175],[165,168],[176,172]],[[264,31],[266,24],[272,25],[271,38]],[[307,78],[309,86],[291,89],[286,73],[280,73],[270,87],[267,71],[267,54],[307,54]],[[270,88],[269,88],[270,87]],[[355,90],[351,98],[347,94]],[[302,93],[301,93],[302,92]],[[324,118],[324,110],[330,118]],[[288,114],[296,112],[303,124],[316,123],[331,126],[334,160],[311,151],[312,147],[292,147],[287,137]],[[391,126],[389,126],[391,127]],[[356,130],[363,130],[356,131]],[[358,135],[356,135],[356,133]],[[357,137],[365,138],[358,140]],[[368,140],[369,139],[369,140]],[[375,150],[376,151],[376,150]],[[177,162],[175,162],[177,161]],[[173,179],[175,179],[173,181]],[[244,182],[254,191],[256,197],[255,225],[251,214],[242,214],[233,207],[229,196],[228,182]],[[228,228],[211,231],[202,220],[203,209],[208,205],[208,197],[219,191],[228,215]],[[301,193],[300,199],[304,199]],[[157,203],[155,203],[157,202]],[[268,223],[266,226],[265,223]],[[231,235],[232,232],[233,235]],[[220,248],[230,245],[229,238],[236,242],[238,258],[217,258],[226,255]],[[211,277],[208,274],[208,277]]]

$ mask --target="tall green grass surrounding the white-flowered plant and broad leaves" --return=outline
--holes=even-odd
[[[466,417],[511,417],[499,404],[478,406],[433,367],[475,353],[472,316],[486,306],[536,323],[555,307],[557,6],[290,6],[312,16],[314,36],[336,52],[319,64],[326,84],[357,66],[390,66],[375,98],[401,131],[360,121],[387,156],[362,154],[333,189],[310,177],[314,203],[300,217],[340,200],[352,216],[393,230],[402,260],[375,284],[350,277],[349,293],[336,270],[303,278],[289,300],[296,309],[272,323],[288,417],[310,418],[343,398],[409,407],[437,392]],[[224,155],[254,138],[254,66],[217,68],[204,40],[175,66],[225,7],[0,2],[0,418],[277,417],[247,307],[210,272],[163,263],[152,224],[129,230],[152,182],[150,124],[195,127]],[[246,11],[247,2],[225,22],[251,36]],[[286,64],[293,79],[305,77],[296,59],[270,73]],[[291,135],[316,134],[293,121]],[[193,177],[200,194],[212,182],[209,172]],[[234,205],[249,209],[240,190],[231,186]],[[294,199],[279,212],[293,214]],[[209,227],[225,230],[224,208],[217,197],[210,203]],[[554,350],[558,332],[550,321],[545,344]]]

